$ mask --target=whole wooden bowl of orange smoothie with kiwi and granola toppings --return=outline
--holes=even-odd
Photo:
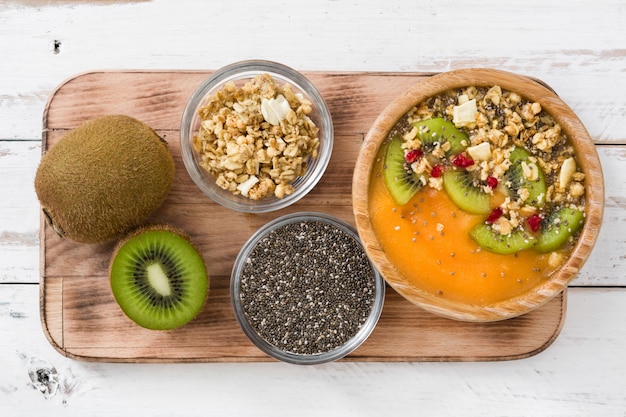
[[[352,189],[387,283],[463,321],[516,317],[561,293],[604,207],[599,158],[573,111],[541,83],[491,69],[438,74],[392,102]]]

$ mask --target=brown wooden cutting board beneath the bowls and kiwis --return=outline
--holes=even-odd
[[[59,238],[41,222],[41,320],[63,355],[107,362],[271,361],[240,330],[229,299],[229,276],[244,242],[263,224],[286,213],[319,211],[354,225],[353,166],[376,116],[394,97],[430,74],[315,73],[305,75],[327,100],[335,147],[315,189],[293,206],[267,214],[229,211],[193,184],[183,165],[179,126],[192,92],[210,72],[99,71],[73,77],[52,94],[43,116],[43,151],[80,123],[104,114],[142,120],[164,137],[176,161],[174,186],[153,215],[186,230],[211,275],[199,317],[172,331],[136,326],[119,309],[107,276],[114,243],[84,245]],[[427,313],[391,288],[370,338],[345,361],[490,361],[532,356],[558,336],[566,295],[524,316],[465,323]]]

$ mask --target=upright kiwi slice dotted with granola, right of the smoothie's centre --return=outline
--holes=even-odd
[[[505,180],[510,184],[510,195],[514,199],[520,196],[520,190],[528,190],[525,204],[534,207],[543,207],[546,202],[546,178],[541,167],[531,162],[530,153],[524,148],[515,147],[509,156],[511,166],[505,174]],[[525,166],[524,166],[525,164]],[[534,174],[529,178],[525,170]],[[536,177],[535,177],[536,176]]]

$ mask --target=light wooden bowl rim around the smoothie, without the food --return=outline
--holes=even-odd
[[[407,282],[390,262],[372,228],[369,215],[370,174],[376,155],[397,121],[425,99],[450,89],[499,85],[502,89],[539,102],[569,137],[578,164],[585,173],[585,224],[569,259],[546,281],[513,298],[488,305],[465,304],[426,292]],[[496,321],[527,313],[545,304],[561,291],[581,269],[598,238],[604,209],[602,168],[589,133],[574,112],[540,82],[493,69],[457,70],[419,82],[397,97],[370,128],[356,162],[352,183],[352,203],[357,230],[367,254],[387,283],[404,298],[432,313],[473,322]]]

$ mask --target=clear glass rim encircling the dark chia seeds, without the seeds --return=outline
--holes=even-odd
[[[250,252],[256,247],[257,243],[268,233],[287,224],[300,221],[320,221],[337,227],[338,229],[342,230],[350,237],[352,237],[355,242],[359,244],[361,248],[363,248],[363,243],[361,242],[356,229],[352,227],[352,225],[350,225],[349,223],[337,217],[314,211],[303,211],[285,214],[274,220],[271,220],[270,222],[259,228],[242,246],[239,254],[237,255],[237,258],[235,259],[235,263],[233,264],[233,269],[231,271],[230,301],[239,326],[243,330],[244,334],[248,337],[248,339],[253,342],[254,345],[257,346],[261,351],[283,362],[297,365],[316,365],[341,359],[352,353],[356,348],[363,344],[365,340],[367,340],[372,331],[374,331],[374,328],[376,327],[378,320],[382,314],[385,301],[386,286],[385,281],[376,269],[376,266],[373,264],[371,259],[368,258],[368,261],[372,267],[372,271],[374,272],[375,281],[375,295],[372,309],[367,317],[367,320],[363,323],[357,333],[354,334],[344,345],[336,349],[314,355],[295,354],[281,350],[263,339],[256,332],[254,327],[248,322],[248,320],[246,320],[245,314],[243,312],[243,307],[241,305],[239,284],[241,281],[243,266]]]

